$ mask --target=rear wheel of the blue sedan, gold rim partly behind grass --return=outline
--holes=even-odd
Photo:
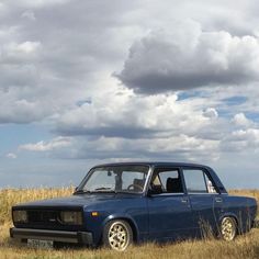
[[[237,236],[237,223],[234,217],[224,217],[221,223],[221,238],[232,241]]]

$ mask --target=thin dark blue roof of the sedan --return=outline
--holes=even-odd
[[[202,167],[209,168],[207,166],[192,162],[168,162],[168,161],[124,161],[124,162],[109,162],[101,164],[95,167],[114,167],[114,166],[149,166],[149,167]]]

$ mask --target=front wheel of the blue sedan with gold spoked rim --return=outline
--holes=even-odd
[[[133,243],[132,227],[123,219],[108,222],[103,228],[102,243],[105,247],[124,251]]]

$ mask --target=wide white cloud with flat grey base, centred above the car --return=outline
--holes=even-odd
[[[56,131],[61,135],[124,138],[199,135],[211,125],[212,117],[216,119],[215,110],[207,110],[204,115],[202,108],[202,101],[178,101],[176,94],[139,97],[124,90],[95,97],[64,113]]]

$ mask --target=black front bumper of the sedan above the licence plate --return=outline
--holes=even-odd
[[[61,232],[48,229],[32,229],[32,228],[10,228],[10,236],[20,239],[42,239],[59,243],[92,245],[92,234],[89,232]]]

